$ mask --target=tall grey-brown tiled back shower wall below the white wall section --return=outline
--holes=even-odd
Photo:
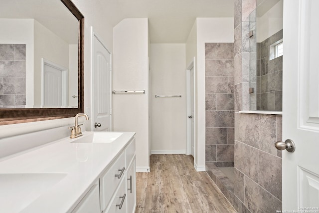
[[[205,43],[206,162],[234,167],[233,43]]]

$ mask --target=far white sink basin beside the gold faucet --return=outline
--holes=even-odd
[[[72,141],[72,143],[112,143],[122,134],[122,132],[94,132],[89,135],[80,136]]]

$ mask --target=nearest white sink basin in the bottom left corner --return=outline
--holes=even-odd
[[[66,173],[0,174],[0,208],[4,212],[20,212]]]

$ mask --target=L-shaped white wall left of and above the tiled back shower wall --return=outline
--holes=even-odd
[[[195,70],[195,159],[197,171],[205,170],[205,43],[234,42],[234,18],[196,18],[197,70]]]

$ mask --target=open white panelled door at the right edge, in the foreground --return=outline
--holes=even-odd
[[[319,212],[319,1],[284,0],[283,209]],[[306,211],[306,212],[307,212]]]

